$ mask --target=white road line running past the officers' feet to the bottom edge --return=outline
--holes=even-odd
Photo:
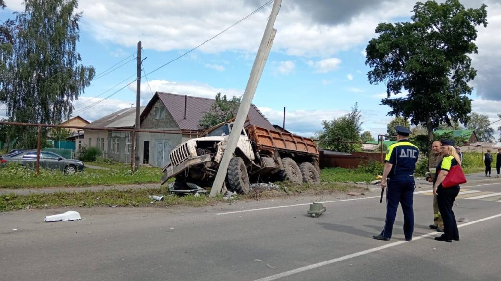
[[[470,224],[482,222],[484,220],[492,219],[492,218],[495,218],[495,217],[498,217],[498,216],[501,216],[501,213],[498,213],[498,214],[495,214],[495,215],[491,215],[491,216],[488,216],[488,217],[484,217],[484,218],[480,218],[480,219],[477,219],[477,220],[473,220],[473,221],[470,221],[470,222],[467,222],[467,223],[463,223],[463,224],[458,225],[457,227],[468,226]],[[423,235],[414,237],[413,240],[421,239],[421,238],[428,237],[428,236],[431,236],[433,234],[438,234],[438,233],[439,232],[437,232],[437,231],[433,231],[433,232],[430,232],[430,233],[427,233],[427,234],[423,234]],[[319,262],[319,263],[314,263],[314,264],[310,264],[310,265],[307,265],[307,266],[299,267],[299,268],[296,268],[296,269],[293,269],[293,270],[289,270],[289,271],[285,271],[285,272],[282,272],[282,273],[278,273],[278,274],[270,275],[270,276],[267,276],[267,277],[259,278],[259,279],[256,279],[254,281],[271,281],[271,280],[279,279],[279,278],[286,277],[286,276],[289,276],[289,275],[292,275],[292,274],[301,273],[301,272],[304,272],[304,271],[307,271],[307,270],[315,269],[317,267],[321,267],[321,266],[324,266],[324,265],[329,265],[329,264],[332,264],[332,263],[336,263],[338,261],[346,260],[346,259],[349,259],[349,258],[352,258],[352,257],[357,257],[357,256],[360,256],[360,255],[364,255],[364,254],[368,254],[368,253],[371,253],[371,252],[379,251],[379,250],[386,249],[386,248],[389,248],[389,247],[397,246],[397,245],[400,245],[400,244],[403,244],[403,243],[407,243],[407,242],[404,241],[404,240],[398,241],[398,242],[393,242],[393,243],[386,244],[386,245],[383,245],[383,246],[379,246],[379,247],[375,247],[375,248],[371,248],[371,249],[366,249],[366,250],[363,250],[363,251],[359,251],[359,252],[355,252],[355,253],[352,253],[352,254],[340,256],[340,257],[329,259],[329,260],[326,260],[326,261],[322,261],[322,262]]]

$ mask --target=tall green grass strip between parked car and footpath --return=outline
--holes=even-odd
[[[91,186],[141,184],[160,182],[161,169],[142,167],[131,173],[130,166],[117,165],[107,170],[86,168],[83,172],[67,175],[60,171],[33,169],[21,166],[0,168],[0,188],[42,188],[58,186]]]

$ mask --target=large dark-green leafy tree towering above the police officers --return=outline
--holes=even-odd
[[[392,108],[389,115],[423,124],[431,140],[440,123],[465,123],[471,111],[468,82],[476,71],[468,55],[477,53],[475,27],[487,25],[487,11],[485,4],[465,9],[459,0],[446,0],[417,2],[413,12],[412,22],[378,24],[379,37],[366,48],[368,79],[386,81],[381,104]],[[403,90],[405,97],[391,96]]]

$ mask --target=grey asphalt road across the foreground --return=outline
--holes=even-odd
[[[499,182],[499,183],[497,183]],[[501,179],[462,186],[460,241],[436,241],[430,186],[414,195],[415,233],[401,211],[391,241],[379,190],[202,208],[75,208],[82,220],[44,222],[68,209],[0,213],[4,280],[499,280]],[[492,195],[489,195],[492,194]],[[318,218],[312,201],[324,202]],[[16,229],[16,230],[13,230]]]

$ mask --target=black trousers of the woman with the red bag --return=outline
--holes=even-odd
[[[446,239],[459,238],[456,216],[452,211],[452,205],[459,193],[459,187],[442,188],[442,186],[439,186],[437,193],[438,208],[443,219],[443,235]]]

